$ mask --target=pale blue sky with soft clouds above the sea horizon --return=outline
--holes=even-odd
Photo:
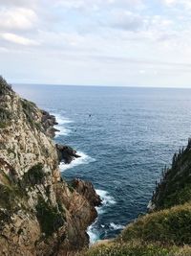
[[[0,0],[10,82],[191,87],[191,0]]]

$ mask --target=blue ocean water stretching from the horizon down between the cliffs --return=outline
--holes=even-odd
[[[55,141],[81,155],[61,164],[65,179],[92,181],[103,205],[89,227],[91,243],[113,238],[146,212],[161,169],[191,132],[191,90],[58,85],[13,88],[53,113]]]

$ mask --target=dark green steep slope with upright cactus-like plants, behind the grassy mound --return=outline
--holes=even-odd
[[[156,209],[165,209],[191,200],[191,140],[175,153],[172,168],[164,169],[152,198]]]

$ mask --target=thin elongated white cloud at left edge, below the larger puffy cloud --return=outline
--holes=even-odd
[[[21,45],[25,45],[25,46],[39,45],[39,43],[37,41],[29,39],[24,36],[15,35],[15,34],[11,34],[11,33],[2,33],[0,35],[3,39],[5,39],[9,42],[12,42],[12,43],[21,44]]]

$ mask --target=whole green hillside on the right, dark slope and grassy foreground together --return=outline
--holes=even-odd
[[[117,239],[96,244],[83,256],[191,255],[191,140],[162,171],[149,213],[127,225]]]

